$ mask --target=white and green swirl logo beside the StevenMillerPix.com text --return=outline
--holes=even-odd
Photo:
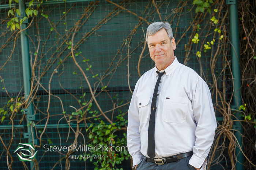
[[[15,153],[16,151],[20,150],[20,149],[29,152],[29,154],[23,154],[23,153],[21,152],[22,156],[20,156],[20,155],[17,153],[19,160],[20,160],[20,161],[30,161],[30,162],[32,162],[32,160],[30,160],[30,159],[34,159],[34,158],[35,158],[35,155],[37,155],[37,151],[34,153],[34,155],[32,155],[32,153],[31,153],[31,151],[30,151],[29,149],[23,149],[23,148],[24,148],[25,146],[29,146],[31,149],[35,150],[35,148],[33,147],[33,144],[32,144],[32,143],[19,143],[19,144],[20,144],[20,145],[16,148],[16,150],[14,151],[14,153]],[[24,146],[21,146],[21,145],[24,145]],[[30,156],[30,157],[29,157],[29,156]],[[23,157],[29,157],[29,158],[23,158]]]

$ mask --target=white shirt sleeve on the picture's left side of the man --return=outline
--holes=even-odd
[[[132,156],[132,166],[138,165],[142,159],[143,155],[140,152],[140,118],[139,110],[137,107],[136,92],[138,88],[135,86],[133,91],[131,103],[128,110],[128,126],[127,126],[127,146],[129,154]]]

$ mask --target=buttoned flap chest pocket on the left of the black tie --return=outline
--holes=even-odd
[[[138,99],[137,106],[139,110],[140,124],[146,123],[149,113],[150,98]]]

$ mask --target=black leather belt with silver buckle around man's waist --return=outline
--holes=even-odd
[[[157,165],[163,165],[163,164],[167,164],[167,163],[171,163],[171,162],[178,162],[179,159],[186,158],[186,157],[189,157],[191,155],[193,155],[193,151],[178,154],[178,155],[174,155],[174,156],[171,156],[171,157],[166,157],[166,158],[150,159],[150,158],[144,157],[144,159],[148,162],[152,162],[152,163],[155,163]]]

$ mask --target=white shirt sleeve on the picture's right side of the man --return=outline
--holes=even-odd
[[[196,141],[189,164],[202,169],[206,168],[207,155],[214,141],[217,122],[211,100],[209,87],[203,79],[198,80],[192,88],[192,107],[197,124]]]

